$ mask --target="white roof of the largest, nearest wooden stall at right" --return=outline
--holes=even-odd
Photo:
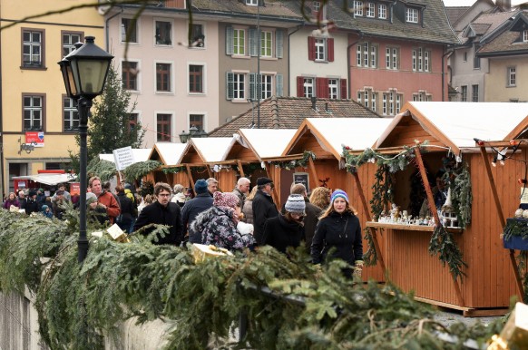
[[[402,112],[410,111],[425,131],[458,148],[474,148],[474,138],[504,141],[513,130],[526,123],[528,103],[515,102],[407,102]],[[403,113],[396,116],[378,139],[386,140]]]

